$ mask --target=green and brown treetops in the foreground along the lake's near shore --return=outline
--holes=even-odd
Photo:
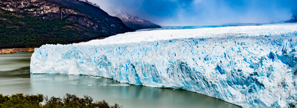
[[[105,100],[93,101],[93,98],[84,95],[79,98],[75,94],[61,97],[48,97],[42,94],[29,95],[23,93],[3,96],[0,94],[0,108],[121,108],[119,104],[109,105]]]

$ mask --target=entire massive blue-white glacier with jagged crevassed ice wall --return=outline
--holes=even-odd
[[[81,74],[189,90],[244,108],[296,107],[297,25],[129,32],[43,45],[33,74]]]

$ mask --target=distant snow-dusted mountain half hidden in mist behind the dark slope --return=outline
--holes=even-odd
[[[114,7],[110,7],[110,9],[112,10],[111,12],[109,12],[111,16],[120,18],[126,26],[133,28],[134,30],[146,28],[161,28],[161,26],[151,23],[148,20],[143,20],[138,16],[133,16],[125,12],[123,9],[117,9]]]

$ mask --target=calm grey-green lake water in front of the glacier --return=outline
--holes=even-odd
[[[61,96],[87,94],[123,108],[241,108],[237,105],[186,90],[129,85],[115,80],[66,74],[30,74],[32,52],[0,55],[0,94]]]

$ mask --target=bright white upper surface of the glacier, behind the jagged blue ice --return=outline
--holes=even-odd
[[[297,31],[297,24],[265,25],[265,26],[233,26],[218,28],[197,28],[180,30],[136,31],[117,34],[101,40],[76,43],[73,45],[106,45],[134,43],[142,41],[188,39],[188,38],[224,38],[228,36],[260,36],[291,34]]]

